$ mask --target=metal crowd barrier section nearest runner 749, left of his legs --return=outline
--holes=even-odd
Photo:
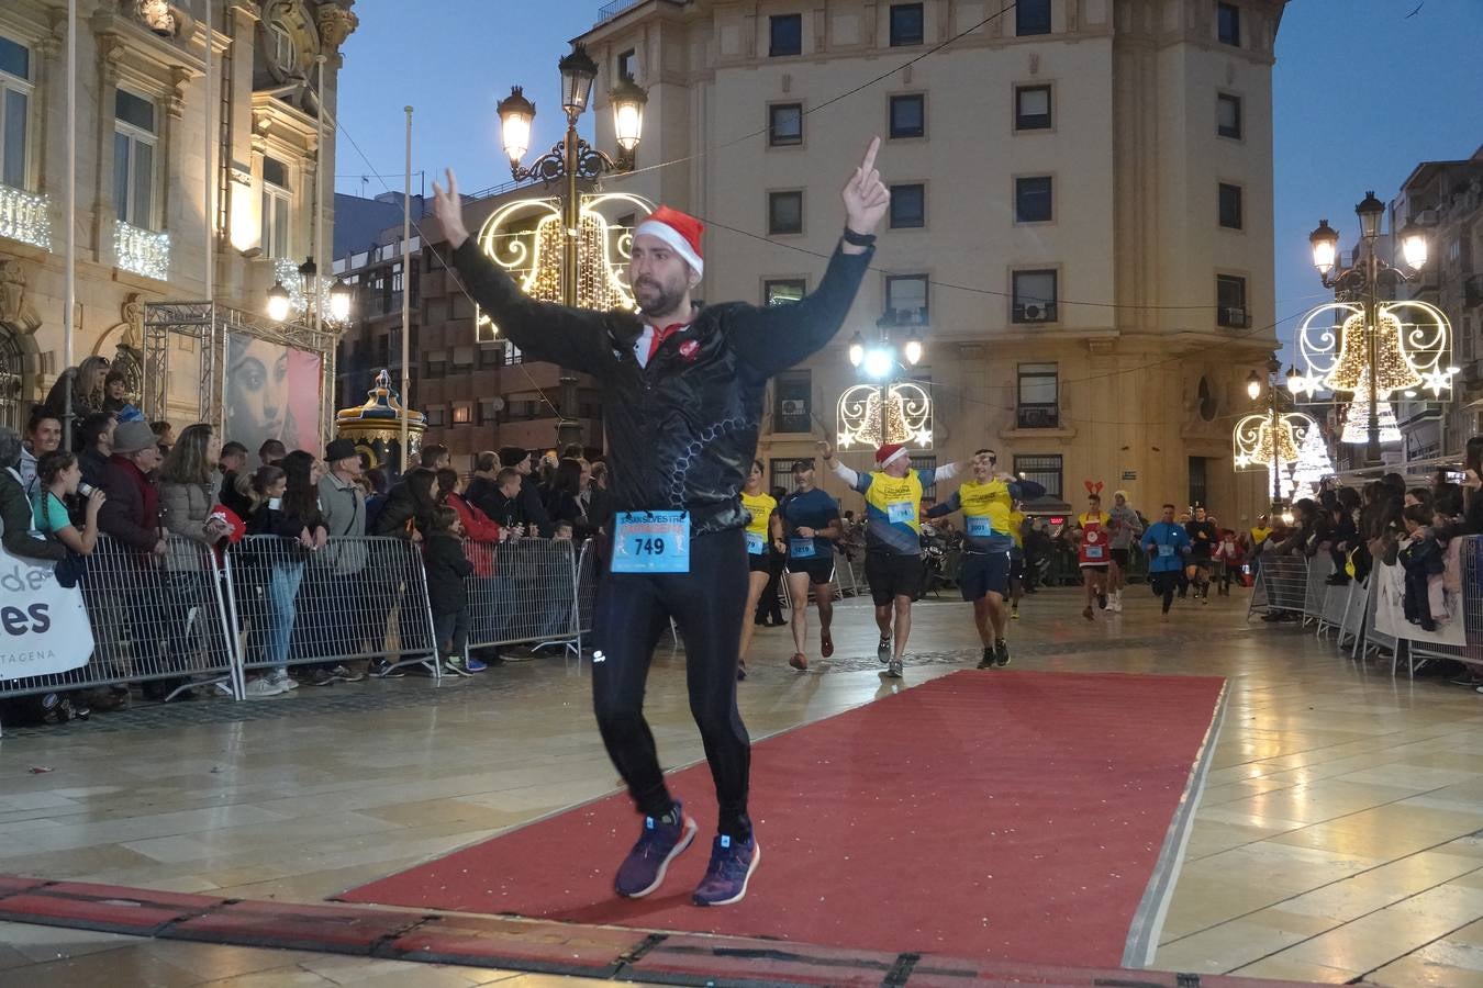
[[[464,541],[475,572],[469,647],[532,643],[581,650],[577,547],[571,539]]]

